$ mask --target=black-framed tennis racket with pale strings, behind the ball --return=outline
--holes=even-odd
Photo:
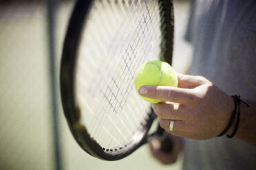
[[[170,0],[76,2],[63,45],[61,99],[88,154],[119,160],[164,135],[160,127],[149,130],[156,114],[136,93],[134,75],[149,60],[171,64],[173,25]]]

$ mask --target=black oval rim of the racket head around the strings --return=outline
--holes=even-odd
[[[97,1],[100,3],[100,1]],[[150,1],[149,1],[150,2]],[[151,1],[152,3],[153,1]],[[70,130],[81,146],[88,154],[103,160],[119,160],[125,158],[141,145],[147,143],[149,128],[155,119],[153,110],[147,110],[147,119],[143,120],[142,125],[133,132],[129,139],[116,147],[107,148],[101,145],[94,136],[89,132],[88,127],[81,123],[83,110],[78,104],[77,93],[77,66],[78,58],[81,51],[81,42],[85,32],[85,25],[88,24],[88,17],[92,13],[96,1],[78,0],[74,6],[70,23],[65,36],[63,53],[61,58],[61,100],[63,111],[67,119]],[[105,1],[109,3],[109,1]],[[116,2],[117,3],[117,2]],[[120,1],[119,1],[120,3]],[[147,5],[147,1],[145,1]],[[157,1],[160,16],[161,42],[159,59],[165,60],[171,64],[173,53],[173,3],[169,0]],[[93,86],[93,84],[92,84]],[[107,114],[107,113],[106,113]]]

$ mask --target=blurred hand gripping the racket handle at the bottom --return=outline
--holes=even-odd
[[[170,145],[172,145],[170,152],[162,151],[161,143],[157,139],[153,139],[149,143],[151,154],[164,165],[170,165],[176,162],[179,153],[182,150],[182,140],[180,137],[170,134],[168,138]]]

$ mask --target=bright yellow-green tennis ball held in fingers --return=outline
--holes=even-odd
[[[178,86],[178,77],[173,68],[167,62],[158,60],[145,62],[142,64],[134,77],[134,85],[138,93],[140,86]],[[140,95],[140,94],[139,94]],[[142,97],[140,95],[140,97]],[[152,104],[162,102],[158,99],[142,97]]]

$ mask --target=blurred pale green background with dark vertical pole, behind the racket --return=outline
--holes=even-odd
[[[89,156],[74,141],[58,90],[61,50],[74,3],[0,0],[0,169],[181,169],[182,156],[164,166],[147,145],[125,159],[106,162]],[[183,38],[189,1],[175,0],[174,9],[173,67],[186,73],[191,61],[191,47]]]

